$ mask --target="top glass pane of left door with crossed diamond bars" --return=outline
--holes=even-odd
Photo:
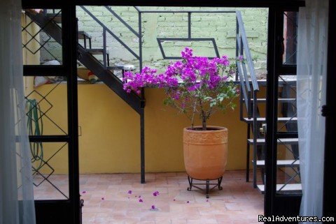
[[[59,9],[22,10],[24,65],[62,64],[62,12]]]

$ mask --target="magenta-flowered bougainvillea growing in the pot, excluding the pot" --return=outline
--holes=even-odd
[[[124,89],[127,93],[141,94],[143,87],[164,88],[167,94],[165,105],[171,105],[191,120],[194,128],[195,114],[202,121],[202,130],[207,130],[207,120],[217,110],[225,112],[235,108],[233,100],[238,96],[233,82],[235,64],[227,56],[208,59],[193,56],[186,47],[181,52],[181,61],[169,64],[165,73],[145,67],[141,73],[125,73]]]

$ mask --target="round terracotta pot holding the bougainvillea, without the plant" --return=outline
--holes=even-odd
[[[184,165],[193,179],[218,179],[225,172],[228,160],[228,128],[207,128],[211,130],[183,130]]]

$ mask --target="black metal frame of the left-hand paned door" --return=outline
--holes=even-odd
[[[41,8],[41,2],[22,2],[23,8]],[[68,132],[66,135],[29,136],[30,142],[65,142],[69,158],[69,199],[36,200],[37,223],[79,223],[80,195],[78,170],[78,97],[77,97],[77,29],[76,8],[59,6],[50,8],[62,10],[62,58],[61,66],[24,66],[23,75],[53,75],[66,77]],[[57,211],[57,212],[55,212]],[[62,214],[62,216],[59,216]]]

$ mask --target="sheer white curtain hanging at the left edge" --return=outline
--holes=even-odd
[[[34,224],[22,77],[21,0],[0,1],[0,224]]]

